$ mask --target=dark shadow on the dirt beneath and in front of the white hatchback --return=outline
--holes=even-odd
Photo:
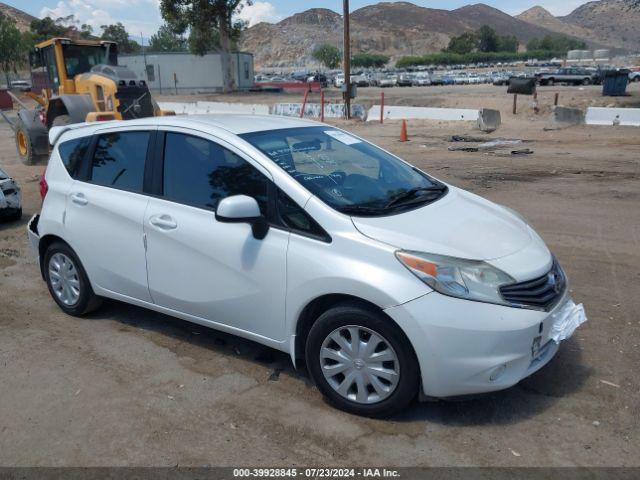
[[[307,386],[313,385],[304,363],[296,369],[288,354],[168,315],[116,301],[106,301],[102,308],[88,318],[115,320],[132,329],[161,334],[168,340],[173,339],[216,354],[253,362],[265,368],[265,375],[272,381],[277,381],[280,375],[286,375]],[[185,346],[188,348],[188,345]],[[578,342],[572,338],[563,343],[548,365],[515,387],[473,397],[422,403],[416,401],[402,414],[390,420],[454,426],[515,424],[543,413],[562,398],[581,390],[593,370],[583,365],[581,360]],[[317,394],[320,395],[319,392]]]

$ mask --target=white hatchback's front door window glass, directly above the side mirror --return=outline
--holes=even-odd
[[[167,132],[163,195],[168,200],[215,210],[220,200],[247,195],[267,215],[269,180],[247,161],[200,137]]]

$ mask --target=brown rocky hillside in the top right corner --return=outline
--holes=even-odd
[[[640,0],[589,2],[560,20],[592,31],[607,44],[640,50]]]

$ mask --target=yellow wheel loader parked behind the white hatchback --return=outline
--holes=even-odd
[[[18,155],[30,165],[49,154],[51,127],[72,123],[168,115],[151,98],[144,80],[118,65],[118,45],[53,38],[29,56],[31,91],[38,106],[24,106],[12,125]]]

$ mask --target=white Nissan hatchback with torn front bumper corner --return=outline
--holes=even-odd
[[[519,215],[327,125],[55,127],[28,227],[53,299],[111,298],[306,361],[344,410],[510,387],[585,320]]]

